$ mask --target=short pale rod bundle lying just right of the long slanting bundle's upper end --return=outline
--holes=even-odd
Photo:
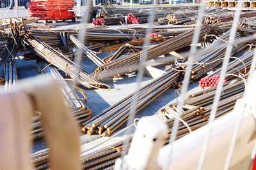
[[[86,48],[77,38],[75,38],[73,35],[69,35],[70,40],[81,50],[83,50],[86,57],[88,57],[92,62],[100,67],[104,65],[104,62],[97,56],[95,53],[93,53],[92,50]]]

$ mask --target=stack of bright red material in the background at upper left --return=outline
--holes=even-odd
[[[42,20],[63,20],[75,18],[74,0],[31,0],[29,14]]]

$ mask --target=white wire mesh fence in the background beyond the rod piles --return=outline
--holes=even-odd
[[[83,15],[87,6],[111,4],[116,8],[140,8],[154,6],[175,6],[196,4],[196,0],[74,0],[74,11]],[[0,0],[0,19],[29,17],[30,0]]]

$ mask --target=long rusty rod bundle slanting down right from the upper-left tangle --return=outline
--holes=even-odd
[[[25,33],[22,38],[22,42],[29,50],[31,50],[31,52],[42,57],[42,59],[46,60],[50,64],[58,67],[61,71],[64,71],[67,76],[78,81],[78,83],[87,89],[110,89],[108,85],[91,78],[88,73],[72,62],[72,60],[67,59],[65,55],[54,50],[51,46],[45,44],[40,39]]]

